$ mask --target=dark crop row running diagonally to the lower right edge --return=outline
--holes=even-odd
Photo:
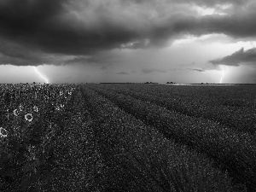
[[[143,102],[131,96],[90,86],[127,113],[154,125],[166,137],[207,154],[238,180],[256,189],[256,143],[247,133],[239,133],[208,119],[192,118]]]

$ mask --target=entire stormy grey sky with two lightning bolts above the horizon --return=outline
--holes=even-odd
[[[256,83],[254,0],[1,0],[0,83]]]

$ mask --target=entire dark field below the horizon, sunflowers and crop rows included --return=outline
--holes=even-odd
[[[0,191],[256,191],[255,88],[0,84]]]

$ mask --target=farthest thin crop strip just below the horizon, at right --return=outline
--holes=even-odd
[[[115,84],[118,85],[118,84]],[[160,96],[176,97],[191,99],[193,102],[203,103],[205,105],[218,105],[233,108],[251,108],[255,101],[254,85],[239,86],[166,86],[166,85],[139,85],[127,84],[131,90],[154,92]]]

